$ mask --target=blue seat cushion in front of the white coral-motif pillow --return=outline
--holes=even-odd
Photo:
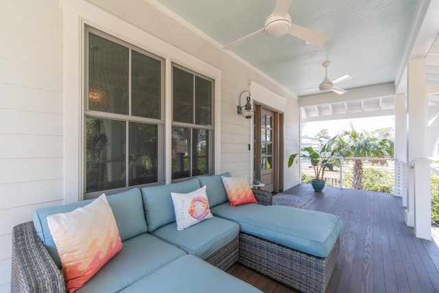
[[[213,217],[183,231],[177,231],[175,222],[170,223],[156,229],[153,234],[191,255],[205,259],[239,235],[239,224]]]

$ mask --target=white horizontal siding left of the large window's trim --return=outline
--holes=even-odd
[[[0,3],[0,292],[12,227],[64,202],[62,12],[57,0]]]

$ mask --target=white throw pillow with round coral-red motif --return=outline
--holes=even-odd
[[[189,192],[189,194],[171,192],[171,196],[172,202],[174,202],[178,231],[213,217],[207,201],[206,186]]]

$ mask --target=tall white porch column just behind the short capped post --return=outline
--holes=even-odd
[[[409,61],[407,74],[407,209],[405,223],[415,224],[414,158],[427,158],[428,95],[425,84],[425,58]],[[420,179],[421,180],[421,179]],[[423,178],[429,184],[430,177]],[[428,182],[427,182],[428,181]],[[418,184],[423,184],[418,181]]]

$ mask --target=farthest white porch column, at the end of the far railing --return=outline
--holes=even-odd
[[[407,207],[407,95],[399,93],[395,95],[395,143],[394,143],[394,189],[393,195],[403,198],[403,207]]]

